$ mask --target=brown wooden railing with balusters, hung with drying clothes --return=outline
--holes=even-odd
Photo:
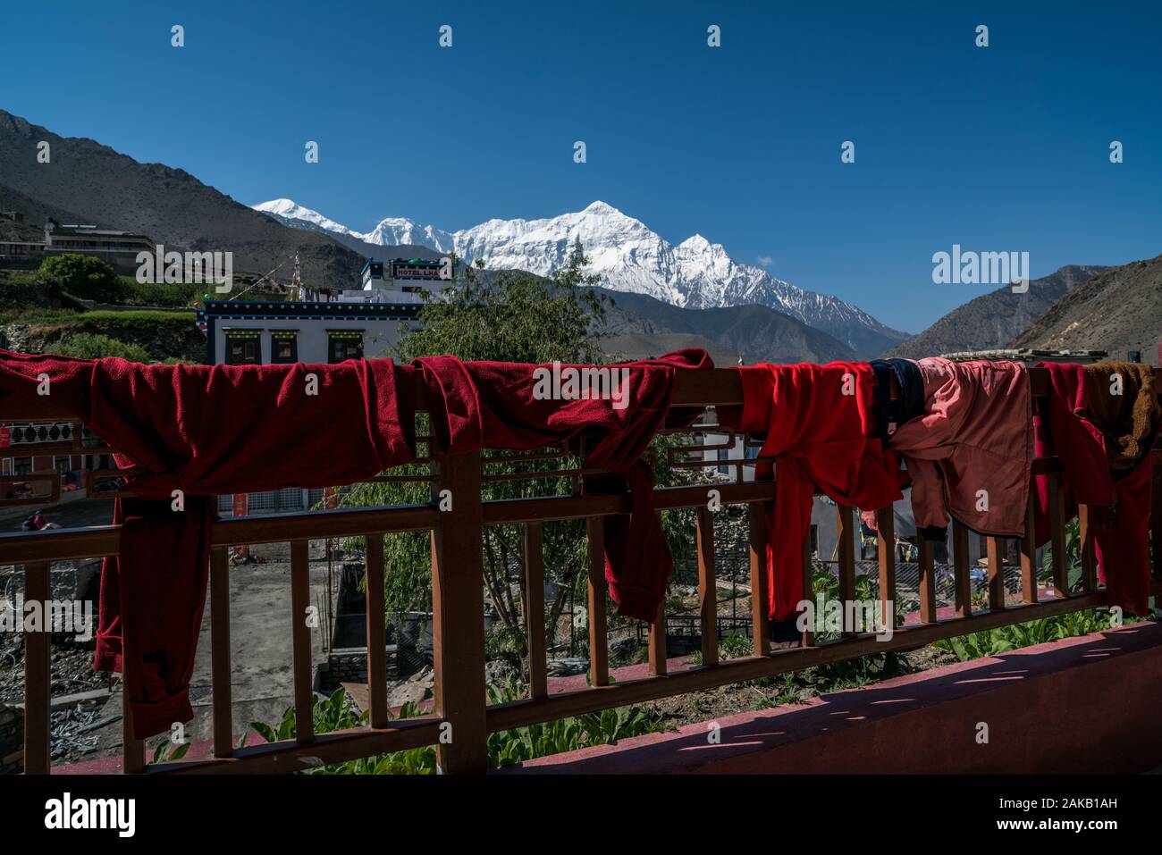
[[[1033,369],[1034,400],[1047,394],[1047,375]],[[673,405],[722,405],[741,403],[741,388],[736,372],[680,372]],[[35,411],[34,411],[35,410]],[[0,419],[53,416],[41,405],[20,414],[0,412]],[[1030,426],[1032,430],[1032,425]],[[665,615],[659,611],[648,637],[648,675],[634,680],[610,681],[607,649],[605,579],[602,558],[601,519],[607,515],[627,513],[629,496],[557,496],[550,498],[515,498],[480,501],[481,457],[447,457],[431,453],[432,503],[409,506],[367,508],[280,515],[277,517],[241,517],[221,519],[211,529],[210,625],[213,683],[213,757],[206,760],[145,764],[144,746],[132,734],[129,718],[123,719],[123,770],[125,773],[231,773],[296,771],[320,763],[336,763],[388,752],[435,745],[439,768],[445,773],[483,773],[487,769],[486,737],[490,732],[547,721],[565,716],[600,711],[624,704],[638,704],[683,692],[709,689],[726,683],[769,677],[811,666],[853,659],[884,651],[919,647],[938,639],[1045,618],[1066,612],[1100,606],[1106,602],[1104,589],[1097,585],[1092,526],[1089,509],[1079,512],[1082,548],[1082,585],[1070,592],[1068,568],[1054,561],[1053,597],[1041,601],[1037,581],[1035,551],[1030,533],[1021,544],[1021,602],[1006,604],[1003,573],[1003,538],[988,538],[989,608],[975,612],[971,604],[969,568],[969,532],[954,523],[952,563],[954,573],[954,617],[941,618],[937,610],[935,570],[932,546],[919,543],[919,622],[901,626],[888,640],[871,634],[845,632],[835,641],[817,644],[813,634],[804,633],[798,647],[773,651],[767,617],[765,567],[766,537],[763,511],[774,501],[774,484],[744,481],[743,461],[732,461],[737,477],[731,483],[694,484],[658,488],[654,493],[659,511],[694,509],[696,518],[696,556],[701,592],[702,664],[668,673],[666,661]],[[753,461],[745,461],[747,465]],[[719,462],[708,461],[715,467]],[[1054,556],[1066,554],[1064,502],[1060,466],[1055,458],[1034,461],[1033,474],[1049,474],[1052,483],[1052,547]],[[1162,452],[1154,452],[1155,503],[1152,518],[1154,552],[1153,590],[1160,591],[1160,553],[1162,549]],[[715,595],[713,515],[706,508],[708,488],[718,490],[722,504],[748,506],[748,553],[753,622],[753,655],[719,661]],[[437,496],[451,490],[457,497],[453,510],[439,511]],[[475,497],[465,501],[464,497]],[[1032,498],[1030,505],[1032,520]],[[546,641],[544,632],[544,559],[541,526],[551,520],[584,519],[588,538],[588,620],[589,688],[550,695],[545,673]],[[524,590],[522,604],[528,630],[530,664],[529,697],[497,705],[487,703],[485,683],[485,634],[482,616],[483,568],[482,534],[485,526],[522,524],[524,526]],[[855,596],[855,526],[851,508],[837,509],[839,541],[839,596]],[[891,509],[878,511],[878,596],[883,613],[894,617],[896,591],[894,516]],[[383,638],[383,545],[376,536],[400,532],[431,532],[432,612],[435,646],[435,710],[432,714],[407,720],[389,720],[385,668]],[[49,566],[70,561],[115,555],[119,549],[116,526],[63,529],[50,532],[0,536],[0,565],[23,565],[26,601],[49,596]],[[290,598],[293,615],[302,615],[308,605],[308,541],[323,538],[367,536],[366,608],[368,651],[368,710],[366,727],[337,733],[316,734],[311,716],[310,630],[301,619],[290,620],[294,674],[294,709],[296,737],[243,748],[234,748],[234,723],[230,695],[230,590],[229,548],[243,544],[290,544]],[[812,585],[810,555],[804,552],[803,576],[808,591]],[[290,617],[290,616],[288,616]],[[24,769],[48,773],[50,707],[50,635],[29,633],[24,653]]]

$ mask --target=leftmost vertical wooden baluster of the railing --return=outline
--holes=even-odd
[[[24,774],[48,775],[51,766],[49,750],[49,711],[52,705],[52,673],[49,642],[52,638],[52,611],[49,601],[49,562],[24,565],[24,603],[41,604],[44,624],[40,632],[24,634]],[[24,619],[22,613],[16,618]],[[128,710],[125,716],[128,717]]]

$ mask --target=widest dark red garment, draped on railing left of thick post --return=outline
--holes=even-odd
[[[208,497],[352,483],[411,460],[414,403],[399,371],[390,360],[163,366],[0,351],[0,395],[46,391],[121,452],[141,496],[116,508],[121,554],[102,568],[96,651],[99,668],[122,669],[135,735],[192,717]]]

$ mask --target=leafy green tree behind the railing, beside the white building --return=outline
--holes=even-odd
[[[495,360],[543,364],[605,361],[598,343],[608,300],[590,286],[598,275],[584,272],[588,259],[579,243],[555,274],[543,279],[523,272],[486,273],[466,268],[439,294],[429,299],[418,312],[417,329],[401,329],[392,355],[401,360],[452,354],[465,360]],[[489,281],[490,280],[490,281]],[[425,424],[418,425],[421,436]],[[654,460],[659,483],[667,479],[686,480],[672,470],[665,447],[672,437],[655,439]],[[421,453],[423,448],[419,450]],[[488,500],[569,495],[579,489],[579,479],[569,470],[581,460],[562,457],[559,462],[521,460],[512,452],[483,454],[486,475],[497,475],[482,484]],[[514,477],[544,473],[535,479]],[[559,473],[559,474],[557,474]],[[393,469],[392,475],[414,476],[414,482],[357,484],[344,498],[349,505],[424,504],[431,501],[429,484],[418,479],[429,474],[426,465]],[[689,544],[690,522],[684,515],[664,515],[672,545]],[[586,539],[582,520],[553,522],[543,526],[545,577],[562,594],[546,610],[546,628],[552,644],[557,624],[567,603],[565,591],[580,595],[586,579]],[[492,525],[485,529],[485,584],[502,630],[489,639],[492,653],[519,654],[525,639],[521,603],[524,590],[523,526]],[[425,534],[394,534],[385,538],[386,603],[389,613],[426,609],[431,597],[431,555]],[[540,591],[531,596],[541,596]]]

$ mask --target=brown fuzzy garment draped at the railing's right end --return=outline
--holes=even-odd
[[[1121,394],[1111,395],[1113,374],[1121,375]],[[1111,469],[1132,469],[1149,453],[1162,407],[1154,391],[1154,368],[1141,362],[1095,362],[1085,366],[1085,409],[1105,434]]]

